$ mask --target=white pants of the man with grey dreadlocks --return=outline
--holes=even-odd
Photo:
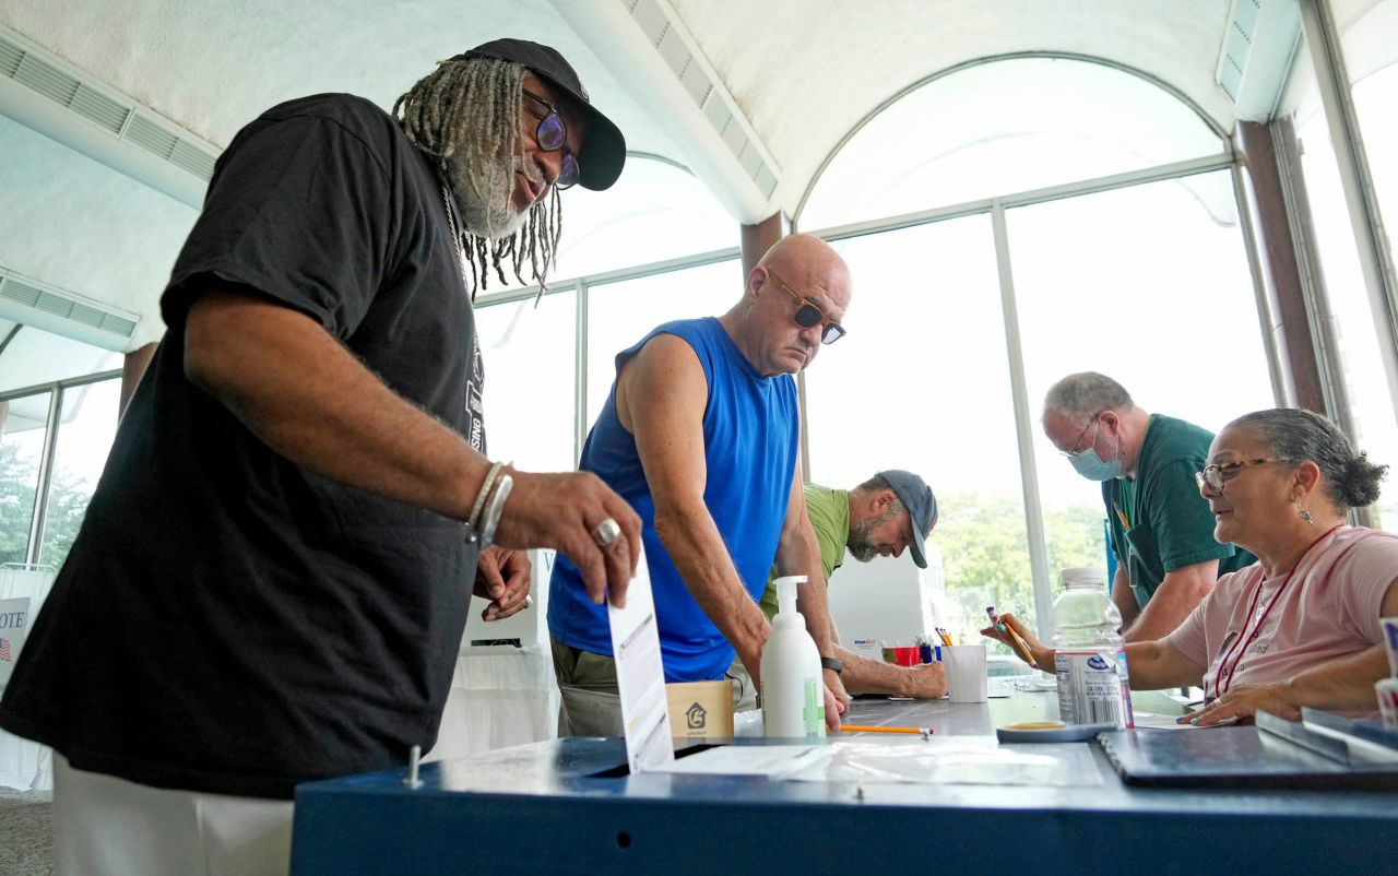
[[[53,753],[59,876],[285,876],[291,801],[166,791]]]

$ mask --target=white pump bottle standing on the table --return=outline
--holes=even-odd
[[[768,736],[825,736],[825,680],[821,652],[795,611],[795,585],[807,577],[777,578],[777,613],[762,648],[762,727]]]

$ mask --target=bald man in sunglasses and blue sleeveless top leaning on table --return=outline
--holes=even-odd
[[[772,626],[758,602],[773,560],[804,574],[800,611],[825,671],[826,722],[847,696],[833,666],[821,550],[805,513],[797,372],[837,341],[850,271],[825,242],[793,235],[748,274],[721,317],[665,323],[617,356],[617,380],[580,468],[640,514],[667,682],[723,679],[734,652],[761,690]],[[561,735],[619,735],[605,609],[554,567],[548,627]],[[580,592],[580,591],[579,591]],[[735,700],[745,692],[735,690]]]

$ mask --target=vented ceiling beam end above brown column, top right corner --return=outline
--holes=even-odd
[[[1272,119],[1300,36],[1296,0],[1233,0],[1215,80],[1239,119]]]

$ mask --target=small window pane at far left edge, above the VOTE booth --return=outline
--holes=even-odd
[[[50,395],[0,401],[0,563],[22,563],[29,550]]]

